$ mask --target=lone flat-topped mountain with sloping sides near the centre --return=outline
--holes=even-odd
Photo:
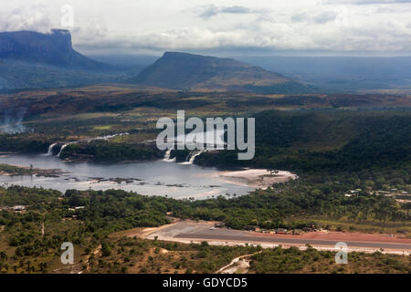
[[[302,93],[313,88],[232,58],[165,52],[131,83],[179,90]]]

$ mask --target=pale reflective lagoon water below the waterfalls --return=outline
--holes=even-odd
[[[77,190],[122,189],[145,195],[167,195],[177,199],[205,199],[219,194],[247,194],[253,188],[245,183],[232,183],[220,177],[215,168],[165,161],[101,164],[62,162],[56,156],[10,154],[0,156],[0,163],[41,169],[60,169],[59,177],[0,175],[0,185],[11,184],[43,187],[65,192]],[[96,180],[96,178],[100,178]],[[116,183],[108,179],[130,179]]]

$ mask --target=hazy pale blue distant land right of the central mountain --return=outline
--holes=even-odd
[[[327,92],[411,89],[411,57],[239,57]]]

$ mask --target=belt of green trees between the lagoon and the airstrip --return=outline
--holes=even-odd
[[[11,186],[0,189],[0,206],[23,204],[29,207],[25,214],[2,211],[0,225],[5,225],[11,234],[23,238],[14,240],[14,243],[25,246],[52,245],[53,241],[45,243],[45,238],[40,243],[24,238],[37,234],[41,222],[58,223],[73,215],[83,224],[66,236],[76,242],[88,234],[108,235],[133,227],[166,224],[169,222],[167,212],[179,218],[223,221],[228,227],[237,229],[249,224],[263,228],[294,229],[309,224],[320,226],[321,219],[345,219],[353,224],[396,224],[397,231],[401,232],[403,227],[409,227],[406,223],[411,219],[411,204],[400,204],[393,197],[375,195],[373,189],[409,185],[410,171],[408,168],[401,172],[304,175],[298,181],[280,183],[265,191],[201,201],[143,196],[121,190],[68,190],[63,194]],[[352,197],[344,195],[355,188],[363,191]],[[26,223],[37,223],[37,228]],[[321,227],[327,228],[327,225],[322,224]],[[30,247],[27,250],[35,249]]]

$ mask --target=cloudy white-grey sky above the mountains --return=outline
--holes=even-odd
[[[89,54],[411,55],[411,0],[2,1],[1,31],[50,28]]]

